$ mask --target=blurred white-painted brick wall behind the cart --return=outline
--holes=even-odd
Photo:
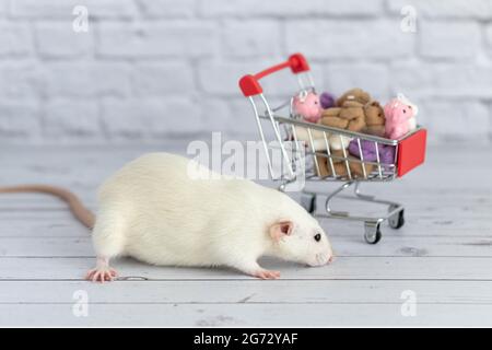
[[[0,0],[0,143],[256,138],[237,80],[294,51],[320,90],[405,92],[431,142],[492,141],[492,0]]]

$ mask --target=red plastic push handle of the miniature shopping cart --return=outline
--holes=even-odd
[[[262,93],[263,89],[261,89],[261,85],[259,84],[258,80],[285,68],[291,68],[292,72],[294,74],[297,74],[301,72],[308,71],[309,65],[307,65],[307,61],[302,54],[294,54],[291,57],[289,57],[289,59],[285,62],[267,68],[266,70],[262,70],[259,73],[247,74],[241,78],[239,80],[241,91],[243,91],[243,94],[246,97]]]

